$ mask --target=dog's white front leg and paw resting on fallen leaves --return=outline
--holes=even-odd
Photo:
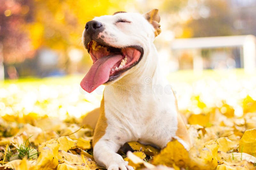
[[[100,139],[93,147],[95,161],[108,170],[133,170],[116,152],[121,146],[108,139]]]

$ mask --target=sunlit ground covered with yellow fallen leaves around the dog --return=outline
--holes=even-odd
[[[159,151],[129,142],[119,154],[136,169],[256,169],[254,75],[171,74],[193,147],[173,140]],[[82,124],[101,94],[84,94],[80,79],[0,83],[0,170],[103,169],[93,159],[92,129]]]

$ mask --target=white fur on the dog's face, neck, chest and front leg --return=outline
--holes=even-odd
[[[116,24],[118,18],[131,23]],[[151,89],[157,85],[164,90],[168,83],[158,65],[158,54],[153,44],[154,28],[141,14],[119,13],[96,17],[94,20],[105,27],[99,37],[103,35],[104,41],[111,46],[139,45],[144,49],[143,58],[136,66],[123,73],[116,81],[107,83],[104,103],[108,126],[105,135],[93,148],[96,162],[106,166],[108,170],[132,169],[116,152],[129,141],[163,148],[175,138],[178,124],[175,97],[165,92],[155,93]],[[134,88],[138,85],[144,86],[148,91],[143,93]]]

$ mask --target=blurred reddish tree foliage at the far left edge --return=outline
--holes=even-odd
[[[32,0],[2,0],[0,5],[0,74],[1,63],[14,63],[32,57],[24,25],[31,21]]]

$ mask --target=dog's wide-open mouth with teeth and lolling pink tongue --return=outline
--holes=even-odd
[[[116,80],[121,73],[139,63],[143,55],[140,46],[116,48],[94,40],[90,41],[86,48],[92,57],[93,65],[80,85],[89,93],[101,84]]]

